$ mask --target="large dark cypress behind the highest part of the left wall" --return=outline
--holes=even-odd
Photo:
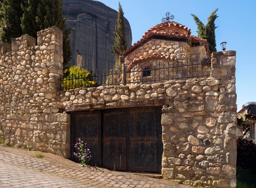
[[[22,6],[23,34],[36,38],[37,31],[56,25],[63,31],[63,70],[70,66],[72,56],[69,34],[72,29],[65,29],[65,19],[62,16],[62,0],[25,0]]]

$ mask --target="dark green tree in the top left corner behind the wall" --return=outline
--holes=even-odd
[[[1,0],[0,1],[0,40],[9,43],[11,38],[21,36],[20,17],[23,10],[21,4],[24,0]]]

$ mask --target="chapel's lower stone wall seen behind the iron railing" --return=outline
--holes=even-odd
[[[192,63],[193,61],[193,63]],[[164,58],[145,60],[136,63],[126,74],[127,83],[152,83],[152,80],[166,82],[168,80],[185,80],[187,77],[208,78],[211,63],[201,64],[196,59],[166,60]],[[144,76],[144,71],[150,69],[150,74]],[[122,78],[124,79],[124,78]]]

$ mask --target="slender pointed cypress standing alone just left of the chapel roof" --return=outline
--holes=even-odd
[[[115,54],[115,69],[120,70],[122,65],[120,56],[126,50],[126,37],[124,27],[124,12],[119,2],[117,25],[115,27],[115,43],[112,45],[112,52]]]

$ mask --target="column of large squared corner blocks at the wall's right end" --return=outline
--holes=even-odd
[[[214,187],[236,187],[236,51],[212,54],[212,77],[220,78],[220,96],[216,108],[218,125],[223,126],[222,179],[213,181]]]

